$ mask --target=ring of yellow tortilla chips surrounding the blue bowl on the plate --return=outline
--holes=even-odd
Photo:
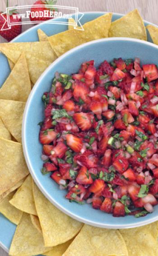
[[[147,40],[138,10],[111,20],[112,13],[107,13],[84,24],[84,31],[69,26],[65,32],[47,37],[38,29],[39,42],[0,44],[11,69],[0,88],[0,213],[17,225],[11,256],[158,256],[157,222],[124,230],[78,222],[45,198],[33,182],[23,156],[21,126],[25,103],[34,83],[56,58],[95,39]],[[149,25],[147,29],[153,43],[158,44],[158,28]]]

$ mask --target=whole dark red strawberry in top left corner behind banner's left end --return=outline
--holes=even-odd
[[[8,1],[7,1],[7,7],[8,7]],[[3,17],[5,17],[5,19],[2,17],[2,13],[0,12],[0,29],[2,28],[2,26],[5,23],[5,19],[7,19],[7,15],[3,14]],[[10,19],[10,23],[17,23],[17,22],[21,22],[21,17],[19,18],[16,14],[18,14],[17,10],[12,10],[9,11],[9,19]],[[13,15],[14,16],[13,18]],[[4,28],[8,28],[8,24],[6,23]],[[0,35],[5,38],[8,42],[12,39],[14,39],[16,36],[18,36],[22,31],[22,24],[19,25],[11,25],[10,29],[7,30],[0,30]]]

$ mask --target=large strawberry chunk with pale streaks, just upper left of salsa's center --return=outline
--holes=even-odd
[[[91,116],[88,113],[75,113],[73,118],[81,130],[89,130],[92,126]]]

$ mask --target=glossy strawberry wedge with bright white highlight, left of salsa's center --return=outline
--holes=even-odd
[[[80,152],[83,146],[82,139],[72,134],[66,135],[66,143],[74,152]]]

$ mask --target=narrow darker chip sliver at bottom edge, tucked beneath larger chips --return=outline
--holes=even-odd
[[[64,244],[60,244],[57,246],[54,246],[51,251],[44,252],[43,255],[46,256],[62,256],[63,253],[67,250],[67,248],[70,246],[74,239],[71,239]]]

